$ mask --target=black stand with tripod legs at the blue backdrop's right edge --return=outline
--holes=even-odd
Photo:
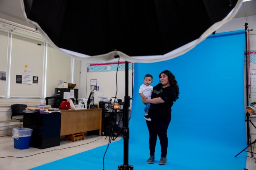
[[[248,30],[248,23],[245,23],[245,64],[246,64],[246,105],[249,106],[249,85],[248,85],[248,50],[247,50],[247,30]],[[250,30],[249,30],[250,31]],[[252,31],[252,29],[251,29]],[[251,120],[249,119],[249,113],[246,113],[246,120],[245,122],[247,122],[247,147],[244,148],[242,151],[245,151],[245,149],[247,149],[248,147],[250,147],[251,151],[251,157],[253,157],[253,150],[252,150],[252,144],[256,143],[256,140],[254,142],[251,143],[251,131],[250,131],[250,123],[254,126],[254,123],[251,122]],[[256,126],[254,126],[254,128],[256,128]],[[242,153],[239,152],[239,154]],[[249,152],[249,151],[247,151]],[[237,154],[235,157],[237,157],[239,154]]]

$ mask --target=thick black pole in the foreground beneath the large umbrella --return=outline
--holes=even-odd
[[[128,61],[125,62],[125,96],[124,96],[124,119],[123,119],[123,165],[118,165],[118,170],[133,170],[133,165],[128,164],[128,149],[129,149],[129,103],[130,96],[128,96]]]

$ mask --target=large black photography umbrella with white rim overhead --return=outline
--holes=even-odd
[[[230,21],[242,0],[21,0],[24,15],[62,53],[88,62],[175,58]],[[25,5],[24,5],[25,4]]]

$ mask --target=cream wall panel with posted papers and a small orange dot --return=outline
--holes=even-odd
[[[9,96],[42,97],[44,41],[13,33],[11,54]]]

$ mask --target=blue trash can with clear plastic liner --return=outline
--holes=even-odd
[[[33,129],[30,128],[13,128],[12,137],[14,141],[14,148],[28,149],[32,131]]]

